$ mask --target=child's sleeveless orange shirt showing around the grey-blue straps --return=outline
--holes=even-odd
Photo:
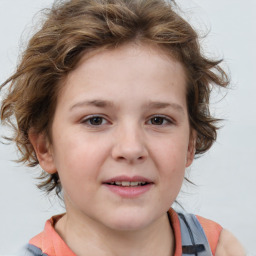
[[[174,256],[182,255],[182,243],[181,243],[181,230],[177,213],[173,210],[169,210],[171,219],[171,225],[175,236],[175,253]],[[32,244],[42,250],[43,253],[48,256],[76,256],[74,252],[67,246],[58,233],[54,229],[55,223],[62,217],[57,215],[48,220],[45,224],[44,231],[32,238],[29,244]],[[209,241],[212,254],[215,255],[218,239],[222,230],[222,227],[205,218],[197,216],[200,224],[202,225],[207,239]]]

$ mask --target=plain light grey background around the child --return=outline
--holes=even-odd
[[[14,70],[21,42],[26,42],[38,20],[32,21],[33,16],[52,2],[0,0],[1,83]],[[224,128],[211,151],[188,170],[198,186],[184,186],[179,200],[188,211],[219,222],[256,253],[256,1],[177,3],[202,34],[208,28],[208,37],[202,40],[205,52],[224,57],[233,86],[218,104],[221,97],[213,98],[213,111],[226,119]],[[0,255],[17,251],[42,230],[46,219],[63,211],[57,200],[49,200],[35,187],[38,170],[19,166],[13,159],[15,148],[0,145]]]

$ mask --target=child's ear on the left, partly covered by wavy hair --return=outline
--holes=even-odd
[[[55,173],[57,170],[54,164],[52,147],[47,136],[44,133],[29,132],[29,140],[42,169],[49,174]]]

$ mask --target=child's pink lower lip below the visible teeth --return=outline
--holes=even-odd
[[[153,184],[147,184],[144,186],[137,187],[121,187],[115,185],[104,184],[111,192],[124,197],[124,198],[135,198],[145,194],[151,189]]]

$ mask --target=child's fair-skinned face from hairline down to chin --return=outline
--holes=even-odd
[[[68,75],[40,164],[58,171],[70,216],[136,230],[165,215],[193,159],[185,87],[181,64],[145,45],[84,58]]]

